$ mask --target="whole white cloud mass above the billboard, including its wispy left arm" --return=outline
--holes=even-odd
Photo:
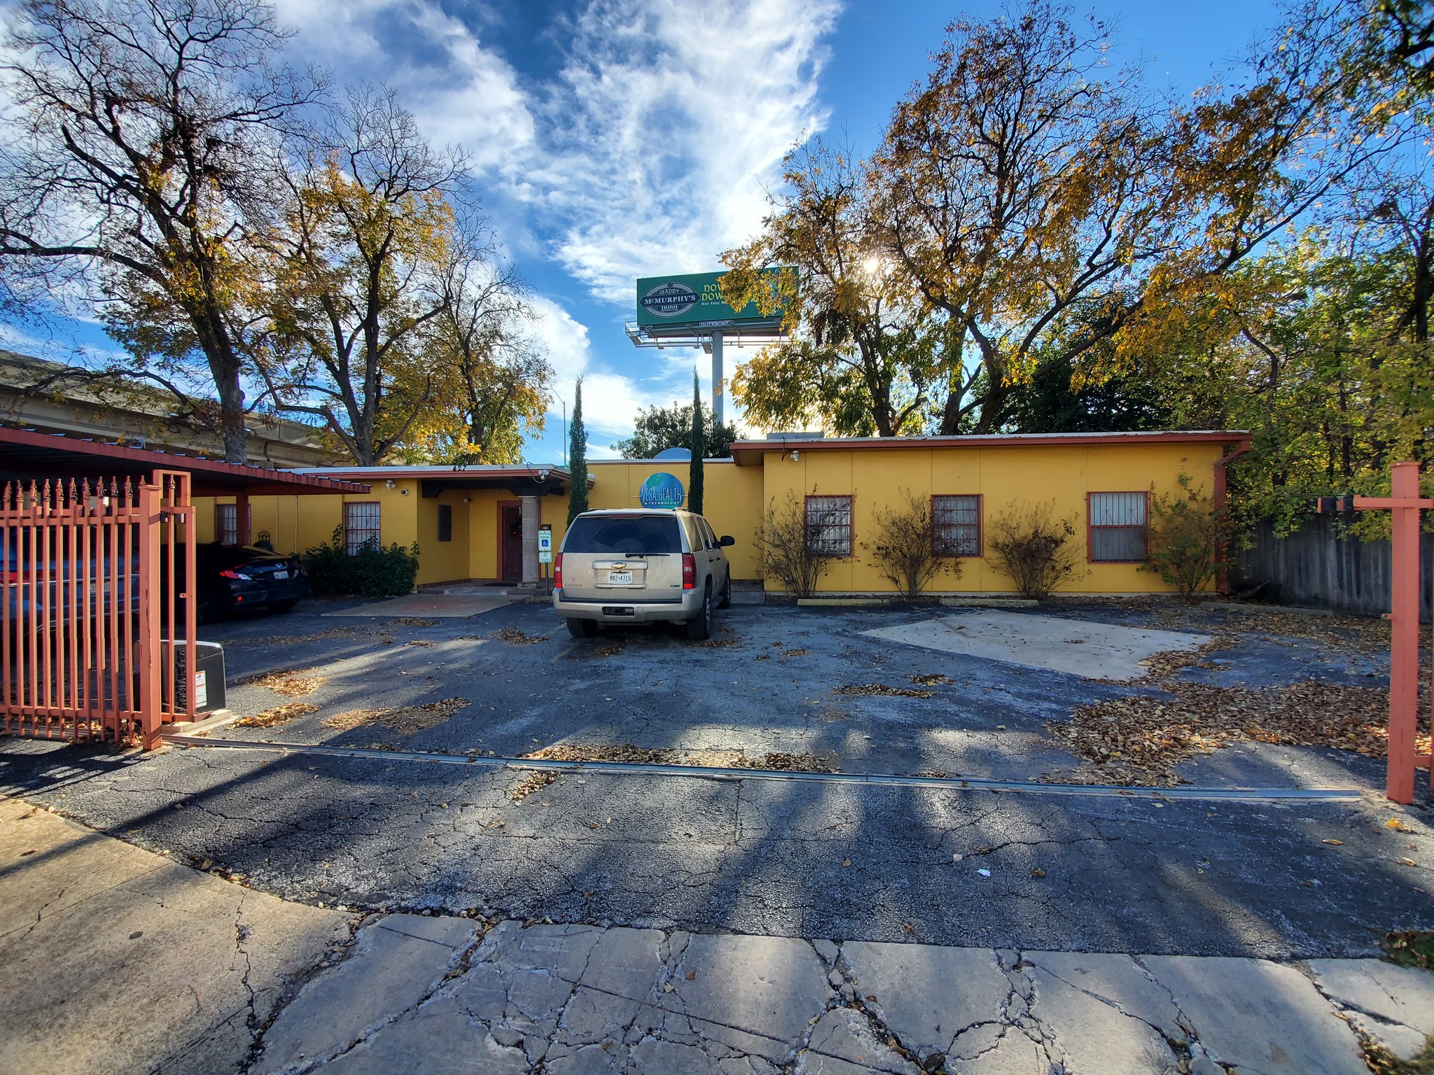
[[[716,268],[751,235],[782,156],[826,120],[817,73],[837,0],[589,0],[548,79],[521,79],[483,40],[490,16],[463,10],[280,0],[295,53],[393,86],[430,138],[473,155],[511,245],[546,235],[624,308],[634,277]]]

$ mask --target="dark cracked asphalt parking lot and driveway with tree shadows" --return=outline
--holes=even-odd
[[[310,708],[222,735],[367,752],[146,757],[0,741],[0,790],[327,906],[1275,957],[1365,955],[1387,930],[1434,927],[1428,801],[1384,803],[1382,760],[1245,744],[1180,768],[1192,787],[1354,793],[1342,801],[1047,794],[1043,778],[1081,767],[1047,722],[1141,688],[866,634],[929,609],[734,606],[700,646],[663,628],[575,641],[542,605],[439,621],[321,615],[331,609],[307,602],[206,629],[242,684],[234,710]],[[1387,674],[1338,632],[1282,636],[1252,629],[1249,613],[1071,603],[1055,615],[1239,632],[1179,672],[1213,685],[1378,685]],[[274,672],[308,682],[281,694]],[[450,764],[576,747],[1008,787],[700,770],[549,781]]]

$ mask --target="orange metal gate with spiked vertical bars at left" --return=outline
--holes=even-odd
[[[151,750],[195,720],[194,549],[182,472],[0,486],[0,731]]]

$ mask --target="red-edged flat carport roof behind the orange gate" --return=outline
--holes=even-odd
[[[239,466],[206,456],[108,444],[102,440],[69,437],[63,433],[0,427],[0,480],[148,477],[155,470],[182,470],[191,474],[192,496],[369,492],[369,486],[363,482],[341,482],[290,470]]]

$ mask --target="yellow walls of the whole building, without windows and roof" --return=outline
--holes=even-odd
[[[1173,492],[1177,477],[1189,473],[1196,486],[1213,487],[1213,464],[1222,446],[1205,443],[1144,444],[1020,444],[994,447],[858,447],[799,450],[799,459],[766,453],[761,466],[737,466],[730,460],[706,467],[704,515],[718,535],[731,535],[728,549],[733,576],[754,579],[760,569],[754,538],[761,512],[769,503],[783,503],[812,493],[852,496],[853,556],[833,558],[819,589],[823,592],[888,592],[892,585],[862,548],[875,530],[876,509],[899,503],[905,490],[918,497],[977,493],[982,497],[982,530],[988,530],[1012,503],[1054,502],[1060,516],[1076,525],[1081,553],[1078,576],[1063,586],[1067,592],[1140,593],[1167,589],[1149,572],[1131,563],[1084,563],[1086,494],[1091,492]],[[683,462],[589,462],[594,484],[591,507],[635,507],[638,489],[652,473],[665,470],[687,484]],[[278,552],[303,552],[333,536],[343,520],[346,500],[374,500],[381,506],[383,543],[419,543],[419,585],[457,579],[496,579],[499,566],[499,503],[516,502],[506,490],[447,490],[424,500],[419,482],[403,479],[387,489],[371,480],[369,494],[270,496],[250,502],[251,535],[268,530]],[[232,497],[229,499],[232,502]],[[221,499],[222,502],[222,499]],[[201,542],[214,540],[212,499],[196,502]],[[437,540],[437,507],[453,507],[453,540]],[[561,548],[566,529],[568,497],[539,500],[539,520],[551,523],[554,548]],[[769,589],[780,583],[767,582]],[[962,558],[961,575],[941,575],[931,589],[954,593],[1011,592],[1010,579],[995,569],[991,558]]]

